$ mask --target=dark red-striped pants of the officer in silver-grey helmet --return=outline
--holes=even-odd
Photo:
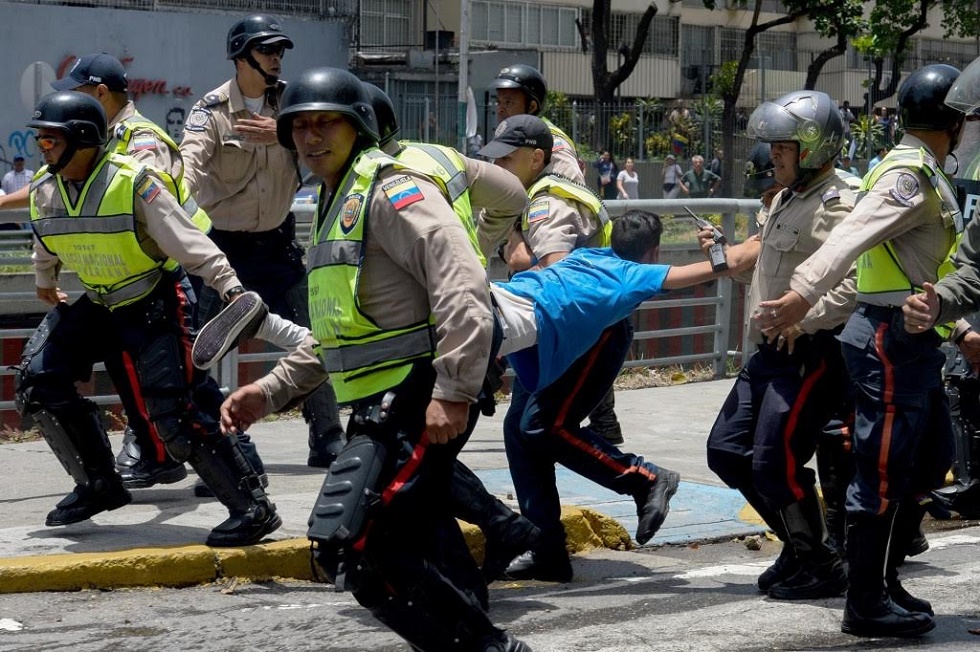
[[[708,466],[728,486],[774,510],[813,492],[813,457],[845,388],[829,331],[797,339],[792,355],[763,343],[739,372],[708,435]],[[749,497],[749,496],[747,496]]]

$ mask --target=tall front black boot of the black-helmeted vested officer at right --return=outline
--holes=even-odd
[[[885,591],[884,571],[895,509],[847,515],[847,602],[841,631],[854,636],[920,636],[936,626],[932,616],[910,612]]]

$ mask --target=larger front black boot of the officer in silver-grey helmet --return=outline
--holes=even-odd
[[[779,510],[789,545],[796,555],[799,569],[790,577],[769,588],[776,600],[817,600],[844,593],[847,576],[837,551],[830,545],[823,512],[815,493],[807,494]]]

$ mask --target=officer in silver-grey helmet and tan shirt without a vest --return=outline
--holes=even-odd
[[[748,135],[766,143],[774,181],[783,190],[761,226],[762,251],[751,277],[748,311],[780,297],[797,265],[826,240],[854,206],[854,193],[834,172],[844,127],[833,100],[796,91],[759,106]],[[713,242],[713,241],[711,241]],[[757,350],[708,435],[708,466],[738,489],[783,542],[776,563],[758,580],[777,599],[840,595],[847,579],[831,544],[805,465],[813,457],[820,425],[843,401],[844,364],[835,339],[854,305],[853,278],[811,311],[799,332],[764,336],[746,324]]]

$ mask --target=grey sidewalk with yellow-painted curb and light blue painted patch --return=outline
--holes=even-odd
[[[625,448],[680,472],[682,482],[664,526],[648,546],[730,538],[761,531],[739,518],[744,501],[718,482],[705,463],[708,430],[732,380],[620,391],[616,412]],[[516,509],[501,424],[507,405],[481,419],[462,459],[487,488]],[[0,446],[0,592],[180,586],[221,576],[308,578],[307,518],[323,471],[306,466],[306,424],[283,420],[250,430],[269,474],[269,494],[283,519],[272,543],[235,549],[203,545],[225,509],[195,498],[195,475],[172,485],[133,491],[133,503],[67,527],[44,526],[44,517],[71,488],[71,480],[43,441]],[[118,450],[121,437],[112,437]],[[575,550],[622,547],[636,529],[632,498],[558,468],[563,516]],[[586,508],[584,511],[580,508]],[[601,516],[597,516],[601,515]],[[482,541],[467,532],[474,551]],[[635,544],[634,544],[635,545]]]

